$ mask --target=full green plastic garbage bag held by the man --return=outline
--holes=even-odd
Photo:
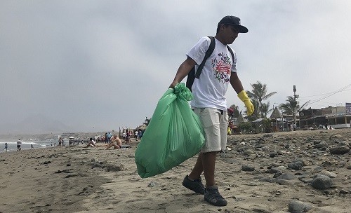
[[[185,83],[178,83],[159,99],[135,150],[140,177],[152,177],[171,170],[195,156],[204,146],[201,122],[187,102],[192,98]]]

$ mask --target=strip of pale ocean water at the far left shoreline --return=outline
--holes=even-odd
[[[0,142],[0,153],[6,152],[5,150],[5,143],[4,142]],[[22,141],[21,144],[21,150],[25,150],[25,149],[32,149],[31,145],[33,144],[33,149],[41,149],[41,148],[46,148],[46,147],[51,147],[54,146],[56,143],[56,145],[58,144],[58,142],[54,142],[53,140],[46,140],[46,141]],[[7,142],[7,151],[17,151],[17,141],[16,142]],[[66,143],[66,145],[68,145],[68,142]]]

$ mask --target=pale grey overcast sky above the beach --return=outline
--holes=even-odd
[[[348,0],[1,0],[0,124],[42,116],[72,131],[135,128],[225,15],[249,29],[231,45],[239,78],[277,92],[271,108],[293,85],[307,107],[351,102]],[[232,88],[227,102],[244,109]]]

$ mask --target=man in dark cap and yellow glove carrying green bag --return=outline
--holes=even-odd
[[[218,151],[225,151],[227,145],[228,115],[225,93],[229,83],[238,93],[239,99],[244,102],[247,114],[251,115],[254,111],[253,104],[237,76],[237,55],[233,53],[234,58],[232,58],[232,53],[227,47],[237,39],[239,33],[246,32],[248,29],[240,25],[240,19],[235,16],[225,16],[220,20],[213,53],[206,60],[201,76],[195,78],[192,85],[194,99],[190,104],[204,127],[206,142],[192,172],[183,180],[183,186],[196,193],[204,194],[204,200],[216,206],[227,205],[227,200],[220,195],[215,185],[214,176],[216,155]],[[170,88],[180,83],[192,67],[201,64],[210,43],[211,39],[202,37],[190,49],[187,59],[180,64]],[[204,172],[206,188],[201,183],[202,172]]]

